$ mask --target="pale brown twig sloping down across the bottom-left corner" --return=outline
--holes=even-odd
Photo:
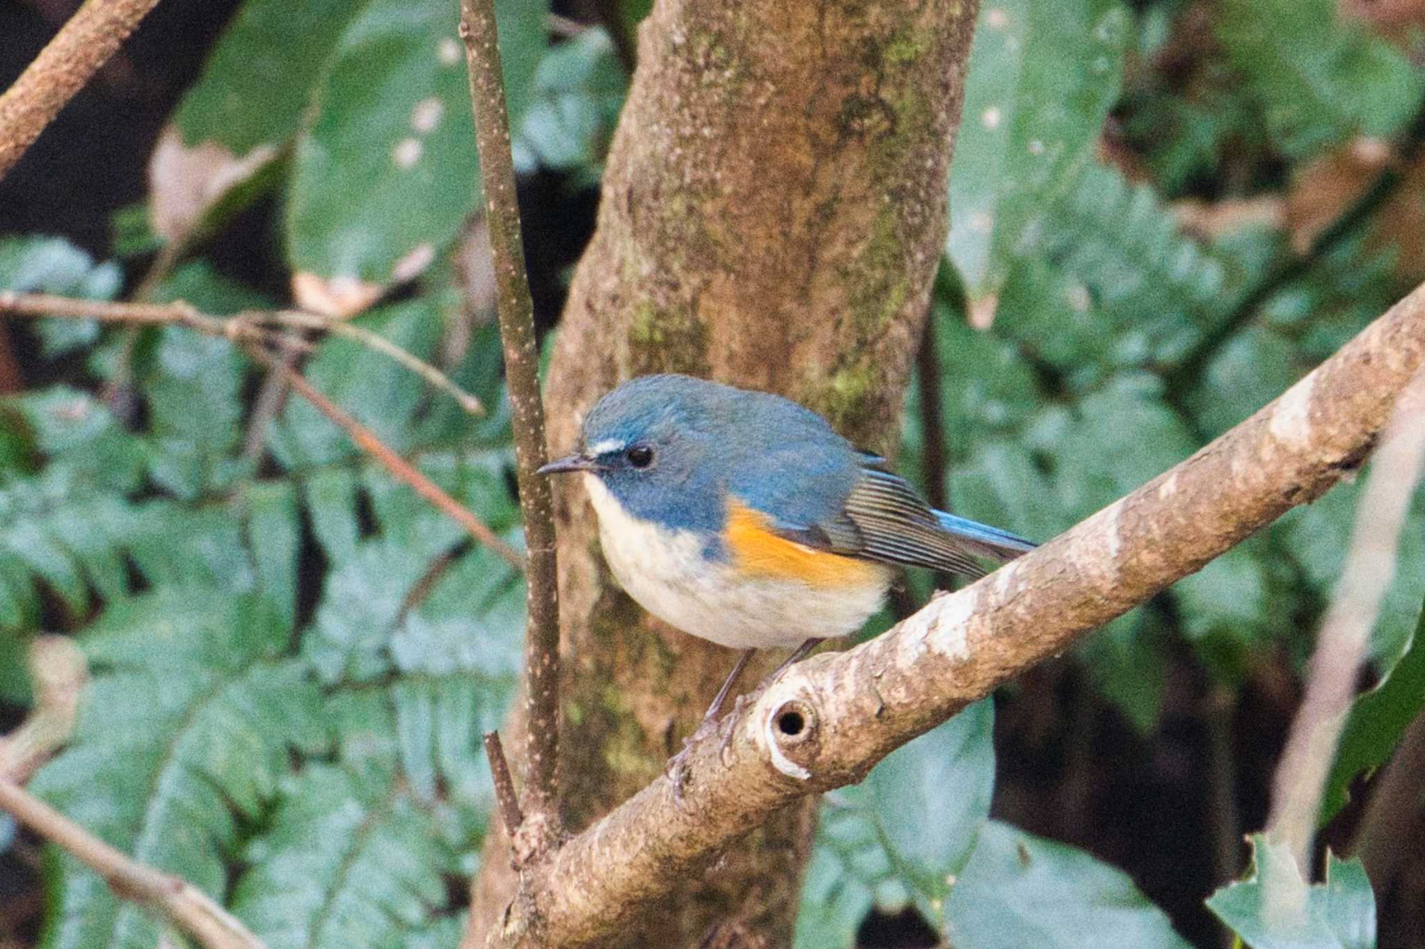
[[[73,854],[120,898],[154,906],[208,949],[264,949],[261,939],[201,889],[131,859],[6,777],[0,777],[0,809]]]

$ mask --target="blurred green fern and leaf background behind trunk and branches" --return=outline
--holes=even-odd
[[[0,9],[4,81],[61,7]],[[497,11],[551,333],[646,4]],[[395,0],[160,4],[0,182],[0,288],[358,313],[489,415],[349,339],[308,379],[519,543],[455,24],[453,4]],[[902,470],[1047,539],[1425,278],[1422,24],[1416,0],[986,0]],[[517,573],[308,403],[272,403],[227,341],[4,331],[0,724],[33,702],[36,636],[73,637],[91,677],[33,789],[269,946],[455,945]],[[1277,945],[1253,921],[1281,856],[1243,835],[1355,496],[1294,510],[828,795],[797,945]],[[1367,869],[1425,826],[1372,824],[1368,781],[1425,701],[1422,529],[1416,504],[1322,814]],[[909,577],[901,608],[929,584]],[[1320,926],[1290,945],[1425,946],[1425,856],[1379,858],[1374,899],[1359,861],[1331,859]],[[181,945],[0,819],[0,945],[161,936]]]

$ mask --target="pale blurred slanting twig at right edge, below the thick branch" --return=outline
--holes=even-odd
[[[1307,691],[1273,779],[1267,832],[1291,846],[1311,879],[1321,794],[1381,600],[1395,579],[1401,529],[1425,467],[1425,373],[1401,392],[1361,493],[1351,546],[1311,655]]]

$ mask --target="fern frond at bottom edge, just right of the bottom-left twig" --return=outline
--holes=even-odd
[[[388,775],[309,764],[284,782],[232,911],[269,949],[399,946],[446,909],[456,871],[432,818]]]

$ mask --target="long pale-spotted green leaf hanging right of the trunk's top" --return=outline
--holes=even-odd
[[[1119,95],[1129,16],[1117,0],[980,9],[950,168],[948,249],[978,312],[1047,204],[1073,184]]]

